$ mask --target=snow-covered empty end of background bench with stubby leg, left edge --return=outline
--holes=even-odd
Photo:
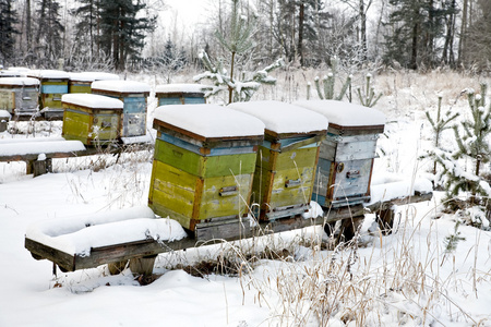
[[[25,161],[26,173],[35,177],[51,170],[52,158],[80,156],[85,150],[82,142],[62,137],[0,140],[0,161]]]

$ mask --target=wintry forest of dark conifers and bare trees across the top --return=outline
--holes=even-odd
[[[165,0],[0,0],[0,64],[67,71],[178,72],[204,49],[226,58],[230,0],[207,0],[201,23],[161,19]],[[345,70],[439,66],[489,71],[489,0],[248,0],[254,47],[238,60],[253,71],[287,65]],[[189,10],[194,10],[190,5]],[[159,17],[160,15],[160,17]],[[168,16],[168,15],[167,15]],[[349,72],[348,72],[349,73]],[[170,81],[169,81],[170,82]]]

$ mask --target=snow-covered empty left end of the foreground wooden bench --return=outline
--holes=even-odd
[[[133,274],[149,275],[156,255],[185,238],[176,220],[156,218],[148,207],[133,207],[33,223],[25,247],[34,258],[49,259],[62,271],[130,261]],[[149,264],[142,265],[142,258],[149,258]]]

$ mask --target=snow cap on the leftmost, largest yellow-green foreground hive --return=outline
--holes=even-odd
[[[255,117],[216,105],[170,105],[155,110],[155,119],[204,137],[264,135]]]

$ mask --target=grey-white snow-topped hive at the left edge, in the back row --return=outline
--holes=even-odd
[[[12,116],[38,111],[39,80],[31,77],[0,78],[0,109]]]

